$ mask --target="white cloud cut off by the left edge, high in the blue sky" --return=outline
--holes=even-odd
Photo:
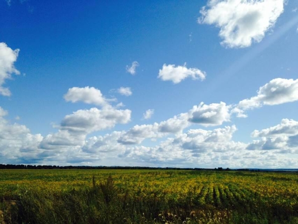
[[[11,78],[11,74],[20,74],[13,65],[16,62],[18,53],[19,49],[12,50],[5,43],[0,43],[0,95],[11,95],[10,90],[2,85],[5,79]]]

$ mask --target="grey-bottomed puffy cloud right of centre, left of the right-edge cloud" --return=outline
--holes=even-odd
[[[230,106],[224,102],[212,103],[210,105],[201,102],[188,112],[188,121],[205,127],[222,125],[230,119],[229,109]]]

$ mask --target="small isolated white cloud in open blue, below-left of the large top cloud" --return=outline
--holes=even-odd
[[[172,81],[177,84],[183,79],[191,77],[192,79],[204,80],[206,73],[197,68],[186,68],[186,64],[183,66],[166,65],[163,64],[162,69],[159,70],[158,78],[163,81]]]

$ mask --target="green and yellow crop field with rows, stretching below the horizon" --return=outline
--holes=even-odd
[[[0,224],[298,224],[298,174],[0,170]]]

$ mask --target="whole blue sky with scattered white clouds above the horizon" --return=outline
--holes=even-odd
[[[0,0],[0,163],[297,168],[297,9]]]

